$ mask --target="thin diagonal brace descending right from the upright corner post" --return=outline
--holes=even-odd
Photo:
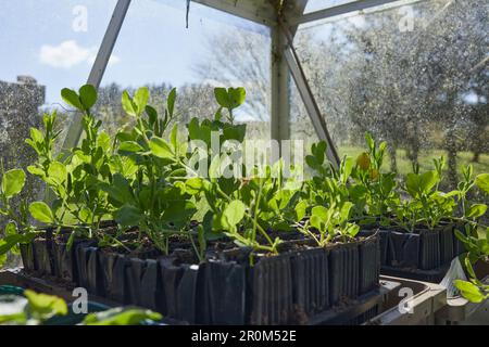
[[[311,87],[309,86],[304,70],[302,69],[302,65],[299,61],[299,56],[297,55],[297,52],[293,48],[292,36],[290,35],[290,31],[288,30],[284,22],[280,22],[280,28],[288,41],[288,46],[287,49],[285,50],[284,55],[287,65],[290,69],[290,73],[292,74],[293,80],[296,81],[302,101],[304,102],[305,110],[308,111],[308,114],[311,117],[314,129],[317,132],[317,137],[319,138],[319,140],[324,140],[328,144],[326,151],[327,157],[335,167],[338,167],[340,163],[338,152],[336,150],[331,137],[329,136],[326,121],[324,120],[324,117],[321,115],[319,106],[317,105],[316,100],[314,99],[314,94],[312,93]]]

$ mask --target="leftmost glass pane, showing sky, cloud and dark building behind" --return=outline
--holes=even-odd
[[[68,116],[60,91],[87,80],[114,7],[115,0],[2,1],[0,160],[5,170],[33,163],[34,151],[24,140],[29,128],[39,125],[43,110]],[[28,176],[21,198],[28,203],[41,191]],[[4,222],[0,218],[0,230]],[[18,259],[8,259],[7,266],[18,266]]]

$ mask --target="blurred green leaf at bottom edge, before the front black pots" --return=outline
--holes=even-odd
[[[89,313],[82,322],[83,325],[136,325],[141,324],[145,320],[161,321],[160,313],[142,310],[113,308],[102,312]]]

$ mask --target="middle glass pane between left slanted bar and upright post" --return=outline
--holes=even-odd
[[[99,107],[110,132],[130,119],[120,110],[121,93],[149,86],[156,104],[177,88],[177,121],[212,117],[214,87],[247,90],[236,118],[250,138],[269,138],[269,34],[266,27],[185,1],[134,1],[102,81]],[[114,105],[114,106],[111,106]]]

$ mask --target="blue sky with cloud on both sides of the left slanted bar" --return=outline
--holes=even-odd
[[[30,75],[47,86],[47,103],[63,87],[86,81],[115,0],[8,0],[0,12],[0,80]],[[192,66],[204,59],[204,40],[223,30],[266,31],[263,27],[185,0],[133,0],[102,85],[199,81]],[[87,10],[87,31],[73,29]],[[75,11],[75,12],[74,12]]]

